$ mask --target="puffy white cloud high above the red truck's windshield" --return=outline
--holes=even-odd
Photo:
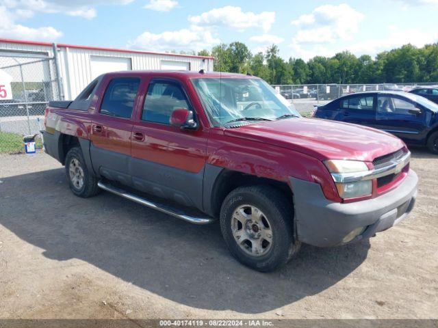
[[[198,16],[189,16],[189,22],[199,27],[230,27],[237,31],[249,28],[261,29],[264,32],[270,30],[275,21],[275,12],[243,12],[240,7],[227,5],[203,12]]]

